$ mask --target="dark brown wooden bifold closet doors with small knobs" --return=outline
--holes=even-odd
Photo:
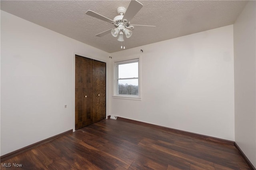
[[[76,129],[106,118],[106,63],[76,55]]]

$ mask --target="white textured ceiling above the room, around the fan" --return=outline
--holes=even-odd
[[[143,7],[130,23],[156,27],[134,28],[132,36],[125,38],[126,49],[233,24],[247,2],[138,1]],[[127,8],[129,3],[129,0],[1,0],[1,10],[112,53],[122,50],[117,38],[111,34],[101,38],[95,35],[114,26],[85,12],[92,10],[113,19],[118,15],[116,9]]]

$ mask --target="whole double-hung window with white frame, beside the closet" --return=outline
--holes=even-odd
[[[139,59],[116,62],[114,96],[140,98]]]

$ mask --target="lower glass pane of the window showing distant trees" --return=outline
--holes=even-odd
[[[138,95],[138,79],[118,80],[119,95]]]

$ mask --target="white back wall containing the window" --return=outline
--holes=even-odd
[[[110,114],[234,141],[233,52],[230,25],[111,53],[141,55],[142,101],[112,99]]]

